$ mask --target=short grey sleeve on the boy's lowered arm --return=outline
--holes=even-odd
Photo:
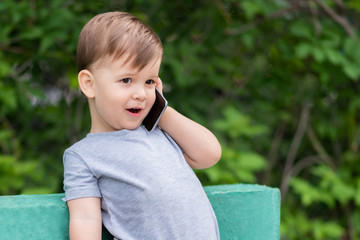
[[[63,163],[65,190],[63,201],[84,197],[101,197],[98,179],[80,156],[67,150],[64,153]]]

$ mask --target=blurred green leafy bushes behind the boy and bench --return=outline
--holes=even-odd
[[[221,141],[204,185],[279,187],[282,239],[360,238],[358,0],[2,0],[0,194],[63,191],[90,125],[77,36],[114,10],[155,29],[170,105]]]

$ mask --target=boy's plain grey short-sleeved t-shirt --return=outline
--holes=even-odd
[[[203,187],[156,128],[90,133],[64,153],[64,201],[100,197],[115,239],[220,239]]]

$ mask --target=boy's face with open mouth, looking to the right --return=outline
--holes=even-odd
[[[161,58],[153,59],[142,70],[134,69],[126,57],[106,58],[92,68],[94,78],[91,132],[135,129],[155,102]]]

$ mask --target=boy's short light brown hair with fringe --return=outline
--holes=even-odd
[[[127,12],[108,12],[93,17],[81,30],[77,46],[78,71],[88,69],[102,57],[144,68],[154,57],[161,57],[163,47],[158,35],[137,17]]]

